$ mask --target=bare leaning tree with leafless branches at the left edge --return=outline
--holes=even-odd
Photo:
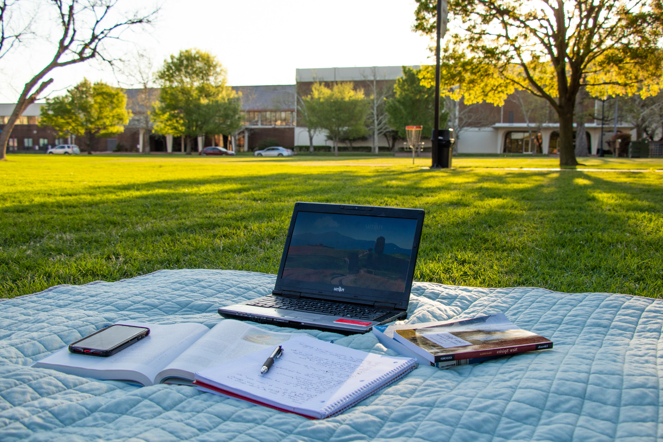
[[[36,14],[50,14],[55,11],[60,38],[56,39],[50,62],[25,83],[9,121],[0,133],[0,160],[6,159],[7,141],[23,111],[53,82],[52,78],[42,81],[49,72],[95,57],[112,65],[115,60],[107,54],[103,43],[119,38],[119,34],[127,27],[151,23],[156,14],[156,11],[147,14],[133,13],[129,17],[118,18],[119,15],[113,9],[117,4],[116,0],[42,0],[42,3],[36,6]],[[3,29],[12,17],[5,12],[2,11],[0,15],[0,27]]]

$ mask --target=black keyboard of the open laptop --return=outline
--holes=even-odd
[[[284,298],[276,296],[265,296],[246,305],[257,307],[273,307],[284,310],[306,311],[308,313],[321,313],[323,315],[353,317],[357,319],[368,319],[373,321],[379,317],[391,313],[387,310],[376,310],[363,305],[340,304],[318,300],[306,300],[297,298]]]

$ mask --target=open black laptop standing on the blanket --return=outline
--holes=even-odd
[[[406,319],[423,224],[422,209],[295,203],[272,294],[219,315],[345,334]]]

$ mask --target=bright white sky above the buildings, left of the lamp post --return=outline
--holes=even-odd
[[[199,48],[225,66],[229,85],[292,84],[296,68],[431,63],[432,40],[412,32],[412,0],[119,0],[117,11],[156,5],[154,25],[124,32],[109,54],[132,60],[141,50],[158,68],[170,54]],[[0,102],[15,103],[52,58],[58,29],[46,9],[35,17],[39,35],[0,59]],[[83,78],[130,87],[125,70],[96,61],[58,68],[48,93],[62,95]]]

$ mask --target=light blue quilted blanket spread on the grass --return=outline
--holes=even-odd
[[[138,388],[29,364],[121,319],[221,320],[219,305],[268,294],[274,276],[162,270],[57,286],[0,302],[0,441],[654,441],[663,302],[540,288],[415,283],[408,321],[506,313],[552,339],[540,353],[437,370],[421,366],[351,410],[310,421],[187,386]],[[268,325],[261,325],[274,329]],[[280,329],[282,331],[288,329]],[[321,339],[387,353],[371,333]]]

